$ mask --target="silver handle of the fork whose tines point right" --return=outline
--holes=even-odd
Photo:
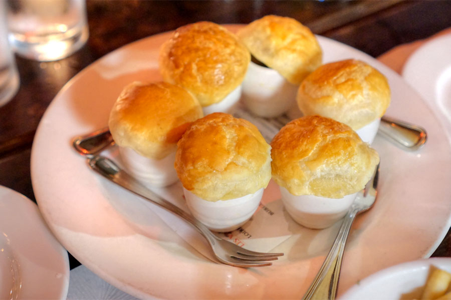
[[[133,176],[122,170],[113,160],[101,155],[95,155],[88,159],[88,164],[94,171],[106,177],[110,181],[182,217],[185,221],[190,223],[194,226],[194,228],[202,233],[210,244],[214,244],[216,240],[219,239],[219,237],[215,236],[204,224],[199,222],[192,215],[158,196],[149,188],[141,184]]]

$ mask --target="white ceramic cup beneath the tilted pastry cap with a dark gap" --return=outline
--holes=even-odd
[[[254,114],[275,117],[296,104],[297,91],[298,86],[288,82],[278,71],[251,61],[241,99]]]

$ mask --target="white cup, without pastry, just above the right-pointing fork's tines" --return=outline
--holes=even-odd
[[[246,223],[260,204],[264,188],[230,200],[204,200],[183,187],[186,204],[192,215],[208,229],[228,232]]]

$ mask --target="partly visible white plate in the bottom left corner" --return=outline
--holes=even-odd
[[[32,200],[0,185],[0,299],[65,299],[67,251]]]

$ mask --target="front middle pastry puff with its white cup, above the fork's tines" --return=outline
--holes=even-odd
[[[245,119],[216,112],[194,121],[177,143],[174,164],[193,216],[220,232],[249,220],[271,179],[270,151]]]

